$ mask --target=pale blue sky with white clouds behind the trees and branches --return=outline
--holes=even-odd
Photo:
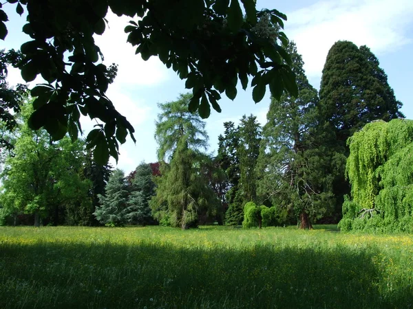
[[[8,37],[0,42],[0,49],[19,49],[22,43],[30,40],[21,32],[25,19],[13,12],[14,8],[15,5],[9,3],[3,5],[10,21],[7,23]],[[316,89],[319,89],[328,50],[335,42],[347,40],[358,46],[370,47],[387,73],[396,99],[403,103],[401,111],[407,119],[413,119],[413,99],[410,95],[413,84],[413,1],[257,0],[257,8],[275,8],[287,15],[284,32],[297,44],[297,50],[305,62],[308,80]],[[186,93],[188,89],[184,88],[184,82],[176,73],[167,69],[158,58],[151,57],[145,62],[135,55],[135,49],[126,42],[127,34],[123,32],[130,18],[118,18],[109,13],[107,20],[109,29],[103,36],[95,37],[96,44],[105,56],[104,63],[118,64],[118,76],[114,84],[109,86],[107,95],[136,130],[136,144],[128,137],[127,142],[120,146],[118,164],[112,163],[129,173],[142,161],[157,161],[157,144],[153,137],[159,112],[157,104],[176,100],[180,93]],[[8,82],[23,82],[20,72],[10,69]],[[208,152],[216,152],[218,135],[224,131],[224,122],[233,121],[237,124],[244,114],[257,116],[262,125],[266,122],[269,90],[258,104],[252,100],[252,89],[243,91],[238,87],[237,90],[234,101],[224,96],[220,100],[222,113],[212,110],[211,116],[206,119],[210,145]],[[84,135],[87,136],[96,122],[84,118],[82,124]]]

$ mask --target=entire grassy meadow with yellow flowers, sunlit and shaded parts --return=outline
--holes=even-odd
[[[334,231],[0,227],[0,308],[413,307],[413,236]]]

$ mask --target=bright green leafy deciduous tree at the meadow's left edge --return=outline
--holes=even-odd
[[[32,106],[26,102],[18,115],[14,155],[6,159],[1,174],[1,202],[14,216],[34,215],[37,227],[41,219],[57,225],[65,222],[68,207],[88,208],[89,181],[79,176],[85,145],[68,137],[53,142],[45,130],[31,130],[30,113]]]

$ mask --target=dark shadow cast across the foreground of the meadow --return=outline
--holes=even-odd
[[[377,249],[1,245],[1,308],[409,308]]]

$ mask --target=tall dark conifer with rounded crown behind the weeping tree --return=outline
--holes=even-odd
[[[332,162],[326,174],[336,174],[333,192],[340,211],[343,196],[350,193],[344,178],[348,137],[368,122],[404,116],[377,58],[368,47],[348,41],[335,43],[328,52],[319,97],[319,130],[330,135],[322,137]]]

